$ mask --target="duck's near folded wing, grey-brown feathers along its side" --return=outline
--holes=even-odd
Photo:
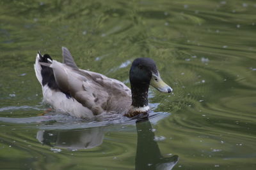
[[[55,81],[61,92],[69,94],[77,102],[93,112],[94,115],[102,113],[109,101],[109,94],[104,87],[93,81],[90,74],[81,74],[66,64],[52,60],[52,64],[44,66],[52,68]]]

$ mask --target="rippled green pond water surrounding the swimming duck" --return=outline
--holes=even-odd
[[[2,169],[256,169],[253,1],[1,1]],[[37,50],[129,86],[151,57],[150,122],[79,120],[42,104]]]

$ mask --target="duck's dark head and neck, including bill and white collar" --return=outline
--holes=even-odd
[[[152,85],[160,92],[172,92],[172,88],[161,79],[154,60],[149,58],[138,58],[132,62],[130,82],[132,90],[132,106],[127,114],[128,117],[133,117],[139,113],[147,113],[149,110],[149,85]]]

